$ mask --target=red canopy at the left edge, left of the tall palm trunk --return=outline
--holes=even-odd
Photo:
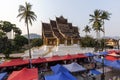
[[[13,59],[11,61],[4,62],[4,63],[0,64],[0,67],[19,66],[19,65],[25,65],[28,63],[29,63],[29,60]]]

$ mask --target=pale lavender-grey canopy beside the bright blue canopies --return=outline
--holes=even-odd
[[[78,71],[84,71],[86,70],[83,66],[79,65],[78,63],[71,63],[63,65],[66,69],[68,69],[70,72],[78,72]]]

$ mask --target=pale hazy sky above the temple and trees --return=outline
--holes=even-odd
[[[50,19],[63,16],[74,26],[79,27],[81,36],[84,26],[89,23],[90,16],[95,9],[105,10],[111,13],[109,21],[105,21],[106,36],[120,35],[120,0],[0,0],[0,20],[10,21],[16,24],[22,30],[22,34],[27,34],[24,20],[19,22],[19,5],[25,5],[25,2],[32,4],[32,11],[37,15],[37,21],[29,26],[30,33],[41,35],[41,23],[49,23]],[[92,31],[90,35],[95,36]]]

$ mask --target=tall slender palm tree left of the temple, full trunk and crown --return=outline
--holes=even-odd
[[[20,17],[20,21],[24,19],[25,25],[27,26],[27,33],[28,33],[28,46],[29,46],[29,61],[30,61],[30,67],[32,67],[31,64],[31,49],[30,49],[30,34],[29,34],[29,24],[32,25],[32,21],[35,21],[37,16],[36,14],[31,10],[32,5],[30,3],[25,3],[25,6],[20,5],[19,6],[19,14],[17,17]]]

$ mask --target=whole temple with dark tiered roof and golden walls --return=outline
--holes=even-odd
[[[79,44],[80,35],[77,26],[73,26],[63,16],[42,23],[42,39],[44,45],[72,45]]]

